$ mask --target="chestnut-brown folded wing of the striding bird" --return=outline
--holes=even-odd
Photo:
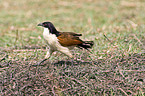
[[[77,36],[80,36],[80,34],[61,32],[57,38],[62,46],[68,47],[83,43],[83,41]]]

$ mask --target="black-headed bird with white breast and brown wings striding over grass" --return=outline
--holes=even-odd
[[[81,40],[79,37],[82,36],[82,34],[57,31],[55,26],[49,21],[39,23],[37,26],[42,26],[44,28],[43,38],[49,47],[45,59],[50,58],[55,51],[59,51],[69,58],[73,58],[70,49],[78,47],[80,49],[89,50],[89,48],[92,48],[94,45],[93,41]]]

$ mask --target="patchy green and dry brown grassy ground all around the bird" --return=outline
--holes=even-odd
[[[143,0],[5,0],[0,4],[0,95],[145,95]],[[93,40],[93,54],[74,49],[74,65],[46,54],[42,28]]]

